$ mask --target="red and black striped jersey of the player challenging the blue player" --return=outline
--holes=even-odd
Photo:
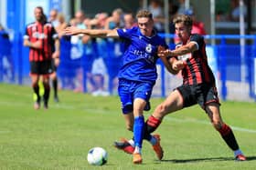
[[[187,55],[177,56],[182,60],[185,67],[182,69],[183,84],[197,85],[201,83],[215,84],[215,77],[208,65],[206,44],[202,35],[192,34],[187,43],[197,44],[197,51]],[[182,44],[177,44],[176,48]]]

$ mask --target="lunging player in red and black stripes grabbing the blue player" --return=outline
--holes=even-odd
[[[146,121],[145,135],[154,132],[165,115],[198,104],[234,152],[236,160],[245,161],[246,157],[240,151],[231,128],[223,122],[219,113],[219,97],[215,77],[208,65],[204,37],[191,34],[193,21],[188,15],[177,15],[174,24],[181,43],[176,45],[175,50],[160,49],[158,55],[169,58],[168,70],[173,70],[172,73],[182,72],[183,85],[178,86],[155,108],[153,115]]]

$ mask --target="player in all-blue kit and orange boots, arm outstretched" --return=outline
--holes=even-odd
[[[149,99],[157,78],[156,60],[158,48],[167,48],[165,40],[154,30],[153,16],[147,10],[136,15],[138,26],[131,29],[79,29],[68,27],[66,35],[85,34],[92,37],[120,38],[125,45],[123,65],[119,71],[118,94],[122,103],[123,116],[128,130],[133,131],[132,147],[127,147],[127,153],[133,154],[133,163],[142,164],[143,139],[153,145],[158,159],[162,159],[163,150],[160,145],[160,135],[144,136],[144,110],[149,110]],[[172,68],[166,58],[162,59],[166,68],[172,73]],[[129,150],[133,148],[133,150]],[[125,151],[125,150],[124,150]]]

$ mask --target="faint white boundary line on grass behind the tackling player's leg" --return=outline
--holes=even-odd
[[[188,122],[188,123],[197,123],[197,124],[203,124],[203,125],[211,125],[207,121],[196,120],[196,119],[179,119],[179,118],[175,118],[175,117],[165,117],[164,119],[167,119],[167,120],[170,120],[170,121],[174,121],[174,122],[180,122],[180,123]],[[256,134],[256,130],[242,128],[242,127],[237,127],[237,126],[233,126],[233,125],[230,125],[230,126],[231,126],[231,128],[233,130],[237,130],[237,131],[240,131],[240,132],[248,132],[248,133]]]

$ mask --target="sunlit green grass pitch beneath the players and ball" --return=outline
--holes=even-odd
[[[51,95],[49,109],[35,111],[29,86],[0,84],[0,169],[255,169],[253,103],[222,102],[220,107],[249,161],[234,161],[207,115],[193,106],[167,115],[156,131],[162,136],[163,161],[157,161],[144,142],[144,164],[133,165],[131,155],[112,146],[114,140],[132,136],[125,129],[117,96],[92,97],[69,91],[60,91],[59,96],[59,104]],[[153,98],[152,107],[161,101]],[[145,113],[148,115],[150,112]],[[107,165],[88,165],[87,152],[93,146],[108,151]]]

